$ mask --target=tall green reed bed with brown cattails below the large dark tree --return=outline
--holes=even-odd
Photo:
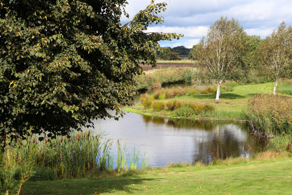
[[[4,153],[5,166],[11,168],[11,175],[20,179],[20,165],[30,163],[34,170],[31,180],[53,180],[60,178],[81,178],[99,175],[100,173],[124,172],[137,169],[139,163],[147,166],[147,156],[143,156],[140,148],[133,147],[128,151],[126,142],[121,147],[117,143],[117,154],[112,149],[112,139],[105,139],[105,132],[95,130],[83,132],[72,131],[71,137],[45,138],[38,141],[39,136],[27,136],[8,147]],[[117,169],[113,169],[116,161]],[[144,167],[145,168],[145,167]]]

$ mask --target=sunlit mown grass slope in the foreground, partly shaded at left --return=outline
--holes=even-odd
[[[26,182],[22,194],[291,194],[292,158],[154,169],[146,175]]]

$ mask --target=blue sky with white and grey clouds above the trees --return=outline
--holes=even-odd
[[[156,0],[156,3],[162,1]],[[123,17],[121,23],[129,22],[149,2],[128,0],[126,11],[130,17]],[[260,35],[261,38],[269,35],[283,20],[287,25],[292,24],[291,0],[171,0],[166,3],[166,12],[159,14],[164,17],[164,23],[149,27],[149,32],[176,32],[185,36],[161,42],[161,47],[183,45],[191,48],[221,15],[239,20],[248,35]]]

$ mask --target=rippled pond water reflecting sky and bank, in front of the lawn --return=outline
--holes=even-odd
[[[190,84],[194,83],[185,83]],[[267,146],[265,140],[249,132],[246,123],[239,122],[170,119],[126,112],[119,121],[107,118],[94,123],[98,129],[110,133],[114,151],[117,139],[121,138],[130,148],[135,144],[141,151],[147,151],[150,166],[180,161],[209,163],[214,153],[223,159],[248,157]]]

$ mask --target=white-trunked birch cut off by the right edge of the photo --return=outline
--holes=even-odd
[[[291,72],[291,41],[292,27],[286,27],[283,21],[260,43],[257,49],[259,68],[275,81],[274,95],[279,79],[286,78]]]

